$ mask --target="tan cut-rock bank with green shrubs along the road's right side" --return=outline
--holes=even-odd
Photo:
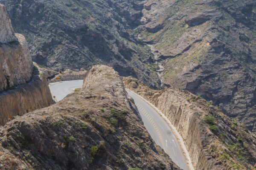
[[[124,77],[123,82],[155,105],[176,127],[196,170],[256,168],[256,136],[212,103],[188,91],[152,90],[132,77]]]

